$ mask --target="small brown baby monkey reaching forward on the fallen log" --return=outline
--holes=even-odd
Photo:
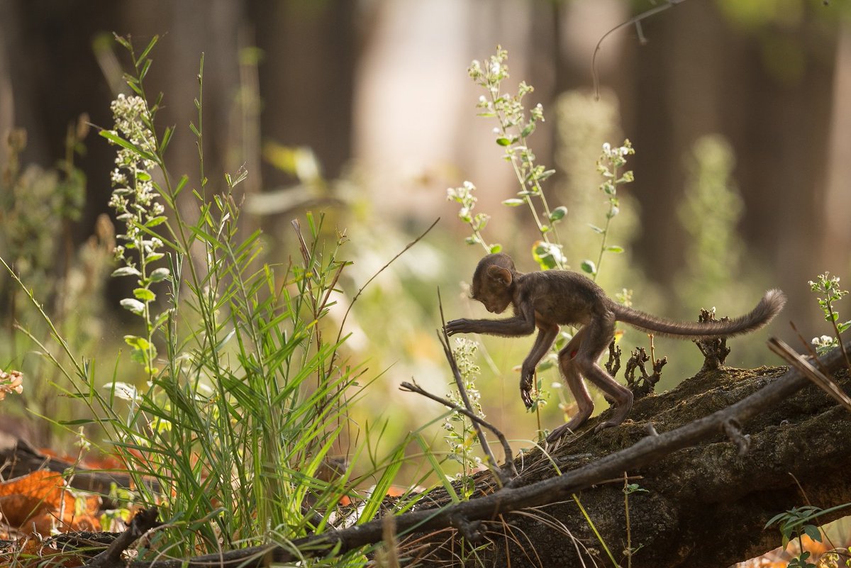
[[[597,360],[614,338],[614,322],[625,321],[648,333],[679,338],[716,338],[752,332],[766,325],[786,302],[780,290],[769,290],[751,313],[731,321],[686,323],[663,320],[632,310],[606,296],[603,288],[570,270],[543,270],[523,274],[514,268],[507,254],[488,254],[473,273],[471,297],[491,313],[501,314],[511,304],[514,316],[504,320],[453,320],[446,324],[449,335],[488,333],[518,337],[538,328],[532,350],[520,371],[520,397],[532,406],[532,382],[535,367],[555,341],[559,326],[581,326],[574,338],[558,353],[558,368],[576,399],[579,412],[568,423],[553,430],[547,441],[554,441],[578,429],[591,417],[594,403],[582,381],[585,377],[614,400],[614,416],[597,429],[616,426],[632,408],[632,392],[597,365]]]

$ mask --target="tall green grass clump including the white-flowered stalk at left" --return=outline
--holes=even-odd
[[[346,500],[361,505],[346,522],[370,520],[404,444],[388,457],[362,444],[369,464],[359,477],[338,457],[354,429],[347,408],[366,386],[358,382],[363,368],[340,355],[345,337],[325,321],[346,267],[338,256],[345,236],[326,241],[322,218],[308,214],[306,230],[294,222],[297,260],[266,263],[260,232],[240,230],[238,185],[247,173],[225,174],[218,187],[204,171],[203,56],[190,125],[199,183],[190,189],[189,177],[175,179],[166,165],[174,129],[157,128],[162,95],[151,100],[146,93],[157,38],[140,54],[129,40],[117,41],[131,57],[130,92],[113,102],[115,125],[100,135],[117,149],[112,275],[132,283],[121,300],[132,315],[121,335],[139,377],[112,372],[105,387],[94,361],[72,351],[3,259],[62,356],[29,334],[31,340],[68,379],[66,394],[91,412],[66,425],[105,433],[107,449],[134,478],[133,503],[160,507],[165,525],[147,545],[157,554],[285,544],[326,530],[334,515],[339,524],[338,505]],[[367,477],[375,491],[359,497],[355,488]]]

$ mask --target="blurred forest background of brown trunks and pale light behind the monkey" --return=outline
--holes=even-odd
[[[442,411],[398,393],[398,383],[413,377],[443,394],[451,381],[435,336],[437,287],[448,319],[484,315],[460,285],[483,250],[463,244],[466,228],[457,206],[446,201],[447,187],[477,185],[477,210],[493,216],[488,240],[501,242],[520,270],[535,269],[528,252],[536,232],[524,211],[500,205],[517,182],[494,144],[494,124],[476,116],[480,93],[465,72],[497,44],[509,51],[511,82],[533,85],[528,103],[544,107],[546,122],[531,145],[539,163],[557,169],[545,190],[551,202],[568,207],[562,226],[571,266],[599,250],[599,236],[587,224],[602,223],[605,212],[595,167],[601,145],[629,138],[636,181],[621,190],[623,211],[614,219],[614,238],[626,253],[607,258],[601,271],[609,293],[629,288],[639,309],[694,320],[700,307],[738,315],[766,288],[780,287],[790,303],[770,332],[796,344],[790,320],[807,339],[831,332],[807,282],[825,270],[851,279],[851,10],[821,0],[676,3],[602,43],[597,100],[591,66],[597,43],[664,4],[5,0],[0,133],[5,140],[13,128],[25,129],[21,168],[40,168],[49,178],[66,159],[66,132],[79,116],[111,128],[110,101],[123,88],[126,65],[112,32],[131,36],[139,48],[159,34],[148,86],[165,94],[157,121],[177,128],[170,168],[197,185],[188,125],[197,112],[192,99],[203,52],[211,183],[223,186],[222,172],[248,170],[239,186],[243,219],[265,231],[267,261],[285,261],[294,251],[289,221],[307,210],[326,212],[326,228],[346,230],[351,242],[341,256],[355,264],[342,282],[339,315],[376,270],[441,217],[436,230],[367,288],[348,326],[347,348],[378,377],[375,394],[363,401],[363,419],[395,409],[394,426],[407,429]],[[23,256],[11,258],[20,266],[37,262],[27,254],[41,254],[54,282],[70,281],[72,254],[90,242],[108,211],[115,150],[91,133],[82,143],[75,166],[85,174],[84,207],[74,219],[46,216],[37,226],[38,252],[18,246]],[[3,168],[10,156],[3,144]],[[36,183],[42,178],[31,172],[31,195],[38,195],[47,182]],[[21,237],[10,231],[12,201],[3,196],[0,211],[4,255]],[[55,443],[55,432],[15,417],[28,416],[24,406],[48,416],[59,409],[41,375],[47,371],[29,355],[31,345],[14,338],[13,322],[27,317],[20,300],[15,303],[6,275],[0,283],[6,333],[0,363],[23,368],[28,378],[20,409],[7,406],[13,417],[4,427]],[[93,355],[124,334],[116,284],[109,283],[99,306],[67,307]],[[44,287],[43,299],[50,302],[59,290],[56,283]],[[779,363],[764,348],[766,332],[757,336],[732,342],[728,364]],[[647,343],[640,333],[626,337],[625,352]],[[482,372],[486,412],[527,440],[535,418],[517,400],[512,367],[530,341],[488,339]],[[671,358],[667,381],[700,368],[700,353],[688,342],[658,341],[656,349]],[[112,365],[100,362],[107,376]],[[561,422],[557,405],[547,411],[546,426]]]

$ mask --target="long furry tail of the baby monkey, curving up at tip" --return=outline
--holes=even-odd
[[[774,316],[783,309],[785,303],[786,296],[782,291],[768,290],[757,307],[749,313],[730,321],[707,321],[705,323],[667,321],[655,315],[616,304],[614,301],[609,305],[609,308],[614,311],[616,319],[648,333],[706,339],[753,332],[773,320]]]

